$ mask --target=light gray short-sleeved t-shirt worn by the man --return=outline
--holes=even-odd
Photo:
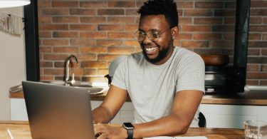
[[[174,96],[182,90],[204,92],[202,58],[185,48],[174,47],[162,65],[149,63],[142,52],[133,53],[117,66],[112,85],[127,90],[135,107],[134,123],[145,123],[169,115]],[[198,114],[190,127],[198,127]]]

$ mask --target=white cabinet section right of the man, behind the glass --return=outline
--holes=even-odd
[[[267,121],[267,105],[201,104],[207,128],[244,128],[245,120]]]

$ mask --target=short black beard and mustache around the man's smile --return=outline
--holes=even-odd
[[[155,44],[157,45],[158,48],[160,48],[160,46],[157,43],[155,43]],[[172,45],[171,45],[171,42],[170,42],[168,44],[167,48],[163,48],[162,50],[159,50],[159,54],[155,58],[148,58],[147,57],[147,53],[145,53],[145,51],[146,51],[145,50],[145,45],[143,43],[141,44],[141,47],[142,47],[142,53],[144,54],[145,59],[147,61],[149,61],[150,63],[157,63],[157,62],[162,61],[162,59],[167,57],[167,55],[169,54],[169,51],[171,50]]]

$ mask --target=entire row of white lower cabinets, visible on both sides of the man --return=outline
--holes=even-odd
[[[91,101],[92,110],[102,101]],[[243,128],[245,120],[267,121],[267,105],[201,104],[200,111],[206,117],[207,128]],[[132,122],[134,107],[126,102],[110,123]],[[23,98],[11,98],[11,120],[28,120]]]

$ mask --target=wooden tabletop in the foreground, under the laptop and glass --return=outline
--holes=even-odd
[[[115,126],[115,125],[114,125]],[[0,121],[0,138],[10,139],[7,133],[9,129],[14,138],[30,139],[31,131],[28,122],[23,121]],[[206,136],[207,138],[244,138],[244,130],[232,128],[189,128],[186,134],[176,136]]]

